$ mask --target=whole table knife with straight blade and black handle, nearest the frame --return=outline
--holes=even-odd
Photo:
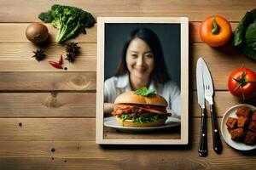
[[[198,153],[199,156],[207,156],[207,116],[205,106],[205,92],[203,84],[202,73],[202,58],[199,58],[196,63],[196,88],[197,88],[197,100],[201,106],[201,133],[199,139]]]

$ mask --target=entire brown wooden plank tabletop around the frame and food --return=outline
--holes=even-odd
[[[37,47],[26,39],[26,26],[38,14],[61,3],[97,16],[189,17],[189,142],[188,146],[101,146],[96,144],[96,26],[73,41],[81,54],[68,71],[48,64],[66,54],[55,43],[56,30],[47,25],[47,59],[32,58]],[[224,150],[212,150],[210,117],[207,157],[197,153],[200,108],[197,105],[195,64],[203,56],[212,71],[218,125],[224,112],[241,101],[227,90],[227,78],[242,63],[256,63],[232,48],[210,48],[198,37],[201,20],[221,14],[235,30],[255,0],[0,0],[0,169],[255,169],[255,150],[241,152],[222,139]],[[253,102],[252,102],[253,103]],[[256,105],[255,102],[253,105]],[[207,105],[207,111],[209,106]],[[207,113],[209,116],[209,112]]]

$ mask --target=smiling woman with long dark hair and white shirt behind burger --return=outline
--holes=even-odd
[[[143,87],[163,96],[168,102],[167,109],[180,114],[180,90],[166,71],[160,40],[153,31],[140,27],[127,38],[114,77],[105,81],[104,112],[113,111],[119,94]]]

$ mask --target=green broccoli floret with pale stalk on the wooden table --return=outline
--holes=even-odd
[[[78,36],[85,27],[90,28],[96,22],[92,14],[81,8],[58,4],[53,5],[48,12],[39,14],[38,18],[58,29],[57,43]]]

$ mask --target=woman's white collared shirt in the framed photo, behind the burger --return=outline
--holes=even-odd
[[[149,89],[153,89],[168,102],[167,109],[171,109],[177,115],[180,115],[181,101],[180,90],[173,81],[165,84],[150,82]],[[131,91],[129,75],[125,74],[121,77],[110,77],[104,82],[104,102],[114,103],[119,94]]]

